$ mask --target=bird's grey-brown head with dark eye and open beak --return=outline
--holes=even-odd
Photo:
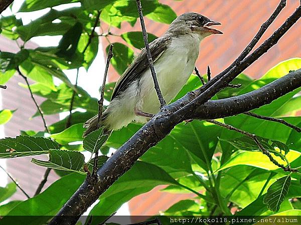
[[[203,38],[211,34],[222,34],[223,32],[212,28],[212,25],[220,25],[220,22],[211,20],[210,18],[196,12],[186,12],[179,15],[169,26],[167,32],[175,35],[197,33]]]

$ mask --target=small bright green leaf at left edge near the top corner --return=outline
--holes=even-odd
[[[1,34],[16,40],[19,38],[19,34],[16,32],[16,27],[23,25],[22,19],[17,19],[15,15],[2,16],[0,18]]]

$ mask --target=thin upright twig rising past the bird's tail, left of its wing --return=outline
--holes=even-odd
[[[101,93],[100,93],[100,99],[98,100],[98,117],[97,117],[97,128],[101,126],[101,118],[102,118],[102,106],[103,106],[103,98],[104,98],[104,88],[105,88],[105,81],[110,65],[110,60],[113,57],[113,44],[110,44],[108,55],[107,55],[107,61],[105,65],[105,70],[104,70],[104,75],[103,75],[103,81],[102,81],[102,86],[101,86]],[[94,156],[94,162],[93,162],[93,170],[92,170],[92,178],[97,178],[97,161],[98,161],[98,150],[95,151],[95,156]]]

